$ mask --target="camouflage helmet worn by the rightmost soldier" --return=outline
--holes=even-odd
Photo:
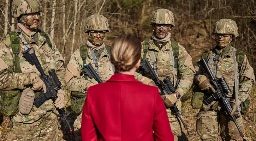
[[[238,37],[237,23],[232,19],[221,19],[215,23],[213,27],[213,34],[228,34]]]

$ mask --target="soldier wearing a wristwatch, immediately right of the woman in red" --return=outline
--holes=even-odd
[[[194,79],[195,69],[191,62],[191,56],[185,48],[171,39],[170,31],[174,26],[174,17],[171,11],[167,9],[156,10],[152,16],[151,25],[154,33],[151,38],[142,42],[142,59],[149,59],[160,80],[163,80],[166,76],[171,79],[177,90],[174,94],[162,96],[162,99],[167,108],[176,103],[178,109],[181,110],[180,98],[184,97],[190,89]],[[135,78],[144,84],[155,85],[149,79],[151,74],[143,73],[143,70],[142,74],[135,74]],[[177,118],[171,115],[169,109],[167,109],[167,114],[172,133],[175,136],[174,139],[177,141],[177,136],[182,133],[181,125]]]

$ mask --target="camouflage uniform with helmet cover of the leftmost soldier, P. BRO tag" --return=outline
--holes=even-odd
[[[12,4],[17,4],[17,1],[14,0]],[[16,2],[16,3],[15,3]],[[26,1],[25,1],[26,2]],[[31,2],[28,0],[28,3]],[[33,3],[33,6],[40,6],[39,1],[37,5]],[[24,3],[22,6],[28,11],[31,10],[31,7],[27,6],[29,4]],[[14,7],[14,6],[13,6]],[[16,6],[17,8],[17,6]],[[39,9],[40,9],[39,8]],[[35,8],[36,9],[36,8]],[[35,10],[34,9],[34,10]],[[35,11],[31,10],[31,13]],[[52,47],[48,45],[46,42],[46,37],[42,35],[40,30],[36,32],[34,36],[38,37],[38,41],[36,38],[31,38],[26,35],[20,28],[19,31],[22,33],[26,42],[30,48],[34,48],[37,59],[39,60],[43,71],[48,74],[50,69],[55,69],[56,74],[62,84],[60,91],[64,90],[64,73],[65,73],[65,65],[64,59],[60,55],[60,52],[55,46],[53,39],[47,34],[49,37],[49,41],[52,44]],[[34,37],[33,36],[33,37]],[[22,53],[24,52],[24,45],[20,40],[20,51],[19,51],[19,65],[22,72],[14,73],[14,54],[11,47],[11,40],[9,34],[2,38],[0,42],[0,90],[20,90],[23,91],[25,88],[29,87],[29,74],[37,74],[40,73],[37,71],[35,65],[31,66],[28,61],[25,61],[25,58],[22,57]],[[16,64],[17,65],[17,64]],[[35,91],[36,92],[36,91]],[[38,93],[38,92],[36,92]],[[36,94],[35,93],[35,94]],[[40,94],[40,92],[39,92]],[[38,94],[38,95],[39,95]],[[37,96],[38,96],[37,95]],[[28,115],[23,115],[18,112],[16,115],[11,116],[12,128],[7,140],[16,141],[16,140],[57,140],[58,138],[58,120],[56,116],[56,109],[54,107],[53,101],[47,100],[44,102],[39,108],[36,108],[34,105],[32,110]]]

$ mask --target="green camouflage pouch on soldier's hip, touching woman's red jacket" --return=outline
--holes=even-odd
[[[71,109],[77,114],[81,114],[87,93],[72,92]]]

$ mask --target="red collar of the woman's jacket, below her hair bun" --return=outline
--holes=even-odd
[[[139,82],[133,75],[116,73],[107,82]]]

